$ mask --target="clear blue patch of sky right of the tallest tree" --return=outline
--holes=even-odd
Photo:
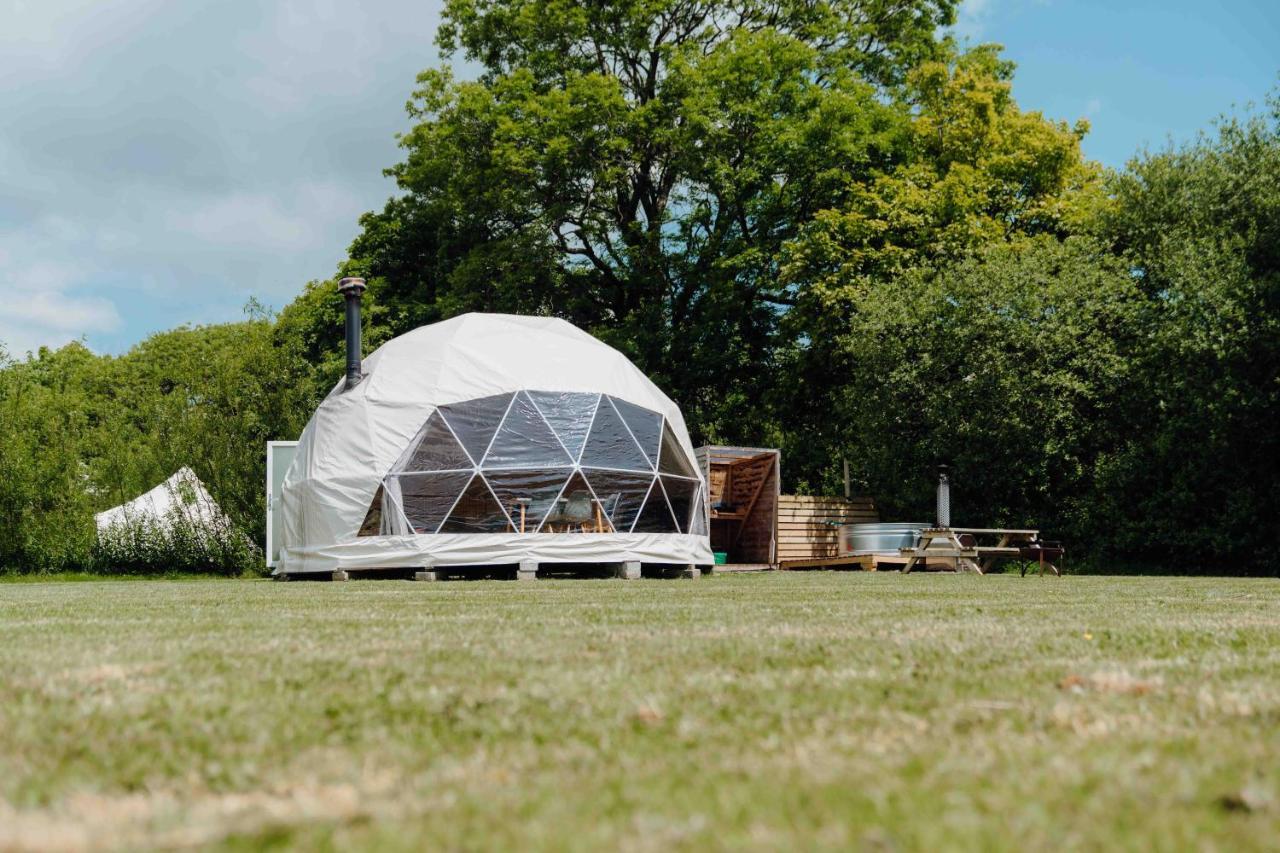
[[[1280,0],[968,0],[956,29],[1005,46],[1024,109],[1089,119],[1084,152],[1115,168],[1280,85]]]

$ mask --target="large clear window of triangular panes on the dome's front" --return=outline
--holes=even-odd
[[[705,532],[700,489],[658,412],[599,393],[520,391],[433,411],[358,534]]]

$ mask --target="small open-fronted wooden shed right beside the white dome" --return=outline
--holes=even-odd
[[[694,456],[710,492],[712,549],[735,565],[776,564],[782,455],[769,447],[704,446]]]

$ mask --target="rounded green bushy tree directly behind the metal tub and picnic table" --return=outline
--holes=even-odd
[[[950,462],[957,521],[1078,530],[1140,318],[1133,279],[1088,238],[996,243],[855,291],[831,342],[847,360],[826,383],[838,393],[785,459],[832,491],[840,448],[884,517],[923,520]]]

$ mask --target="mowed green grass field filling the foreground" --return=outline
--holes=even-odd
[[[0,849],[1263,849],[1280,581],[0,584]]]

